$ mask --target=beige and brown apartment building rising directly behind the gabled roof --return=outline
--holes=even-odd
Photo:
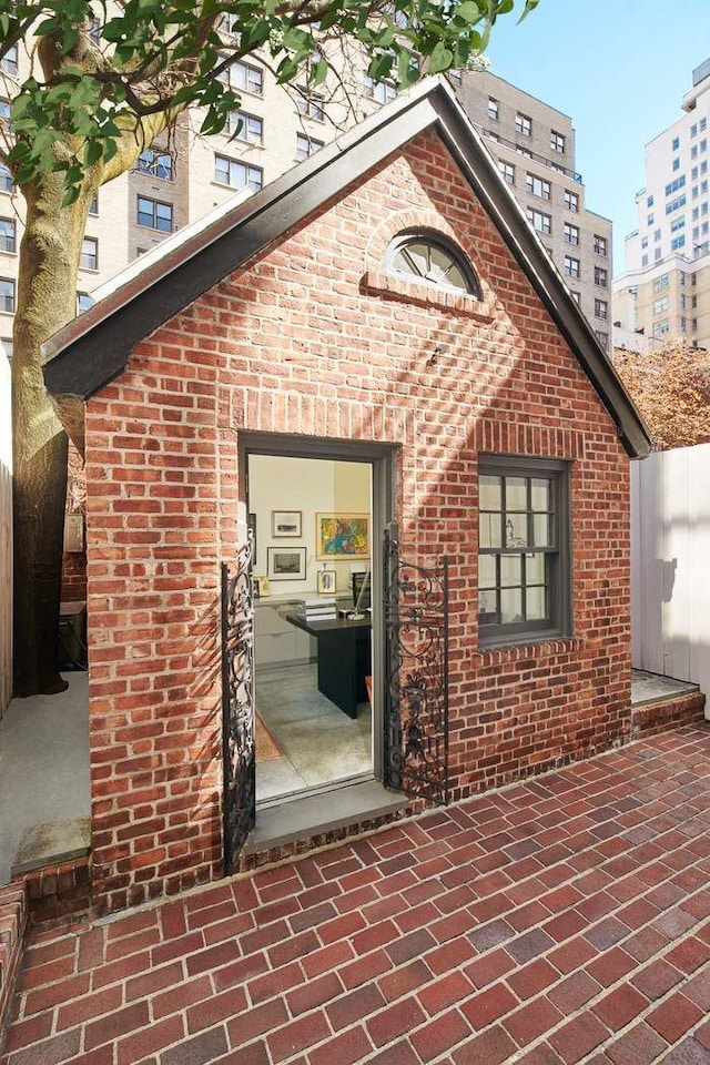
[[[3,116],[9,119],[12,84],[24,77],[27,63],[22,49],[2,63],[0,124]],[[395,94],[386,82],[373,82],[357,57],[339,57],[339,69],[341,78],[314,93],[305,85],[277,85],[255,60],[234,62],[226,77],[242,105],[223,133],[202,136],[199,116],[184,115],[170,139],[152,145],[130,173],[100,190],[83,241],[78,311],[91,305],[97,287],[169,233],[237,190],[261,189]],[[599,341],[608,346],[611,224],[586,207],[585,186],[575,170],[571,120],[488,72],[453,72],[450,81]],[[0,345],[8,353],[21,209],[11,175],[0,171]]]

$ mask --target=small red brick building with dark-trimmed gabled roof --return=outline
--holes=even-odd
[[[628,738],[629,457],[648,439],[444,83],[171,239],[48,356],[87,458],[97,911]],[[316,510],[365,530],[368,760],[261,802],[260,640],[298,652],[257,618],[254,684],[253,613],[324,570],[346,591],[353,569],[313,548]],[[221,584],[254,517],[256,605]],[[420,578],[437,594],[405,615]],[[305,746],[325,757],[351,724],[304,726]]]

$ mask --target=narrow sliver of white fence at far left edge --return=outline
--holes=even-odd
[[[12,416],[10,364],[0,347],[0,718],[12,692]]]

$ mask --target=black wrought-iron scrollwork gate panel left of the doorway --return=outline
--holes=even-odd
[[[256,820],[252,540],[222,564],[222,754],[225,874]]]

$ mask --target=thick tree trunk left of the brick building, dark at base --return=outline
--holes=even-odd
[[[93,184],[93,183],[92,183]],[[62,207],[63,175],[22,190],[12,353],[14,694],[63,691],[58,628],[67,496],[67,435],[48,399],[40,345],[75,314],[77,275],[89,204],[83,187]]]

